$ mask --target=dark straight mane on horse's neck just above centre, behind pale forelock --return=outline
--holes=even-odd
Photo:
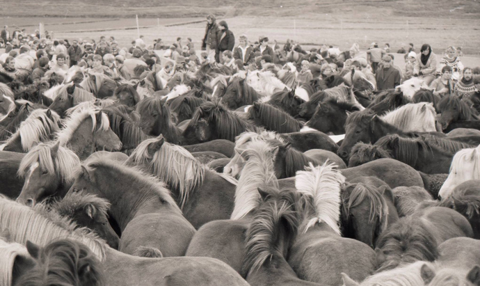
[[[253,103],[252,108],[248,110],[248,118],[250,120],[259,118],[266,129],[275,130],[278,133],[299,132],[303,127],[300,121],[285,111],[261,102]]]

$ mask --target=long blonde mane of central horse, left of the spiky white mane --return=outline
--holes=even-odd
[[[230,219],[238,220],[246,216],[259,205],[258,188],[277,188],[278,182],[273,170],[273,148],[264,141],[253,141],[247,152],[246,161],[237,188],[235,205]]]

